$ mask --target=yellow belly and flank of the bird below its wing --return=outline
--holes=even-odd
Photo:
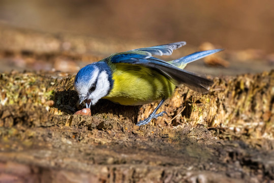
[[[116,64],[113,88],[104,97],[121,105],[142,105],[168,98],[175,85],[161,73],[143,66]]]

